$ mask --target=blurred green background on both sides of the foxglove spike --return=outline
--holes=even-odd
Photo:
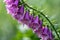
[[[60,35],[60,0],[26,0],[26,3],[43,11]],[[53,33],[57,40],[55,32]],[[39,40],[31,29],[18,24],[11,15],[7,14],[3,0],[0,0],[0,40]]]

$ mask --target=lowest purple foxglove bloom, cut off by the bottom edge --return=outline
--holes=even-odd
[[[47,27],[42,27],[41,29],[37,29],[34,31],[41,40],[53,40],[53,35],[51,30]]]

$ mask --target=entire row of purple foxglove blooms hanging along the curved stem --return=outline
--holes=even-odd
[[[19,22],[32,28],[41,40],[53,40],[51,30],[47,27],[42,27],[43,22],[38,16],[34,17],[30,15],[29,11],[25,12],[24,5],[19,5],[19,0],[4,0],[4,2],[6,3],[7,12]]]

